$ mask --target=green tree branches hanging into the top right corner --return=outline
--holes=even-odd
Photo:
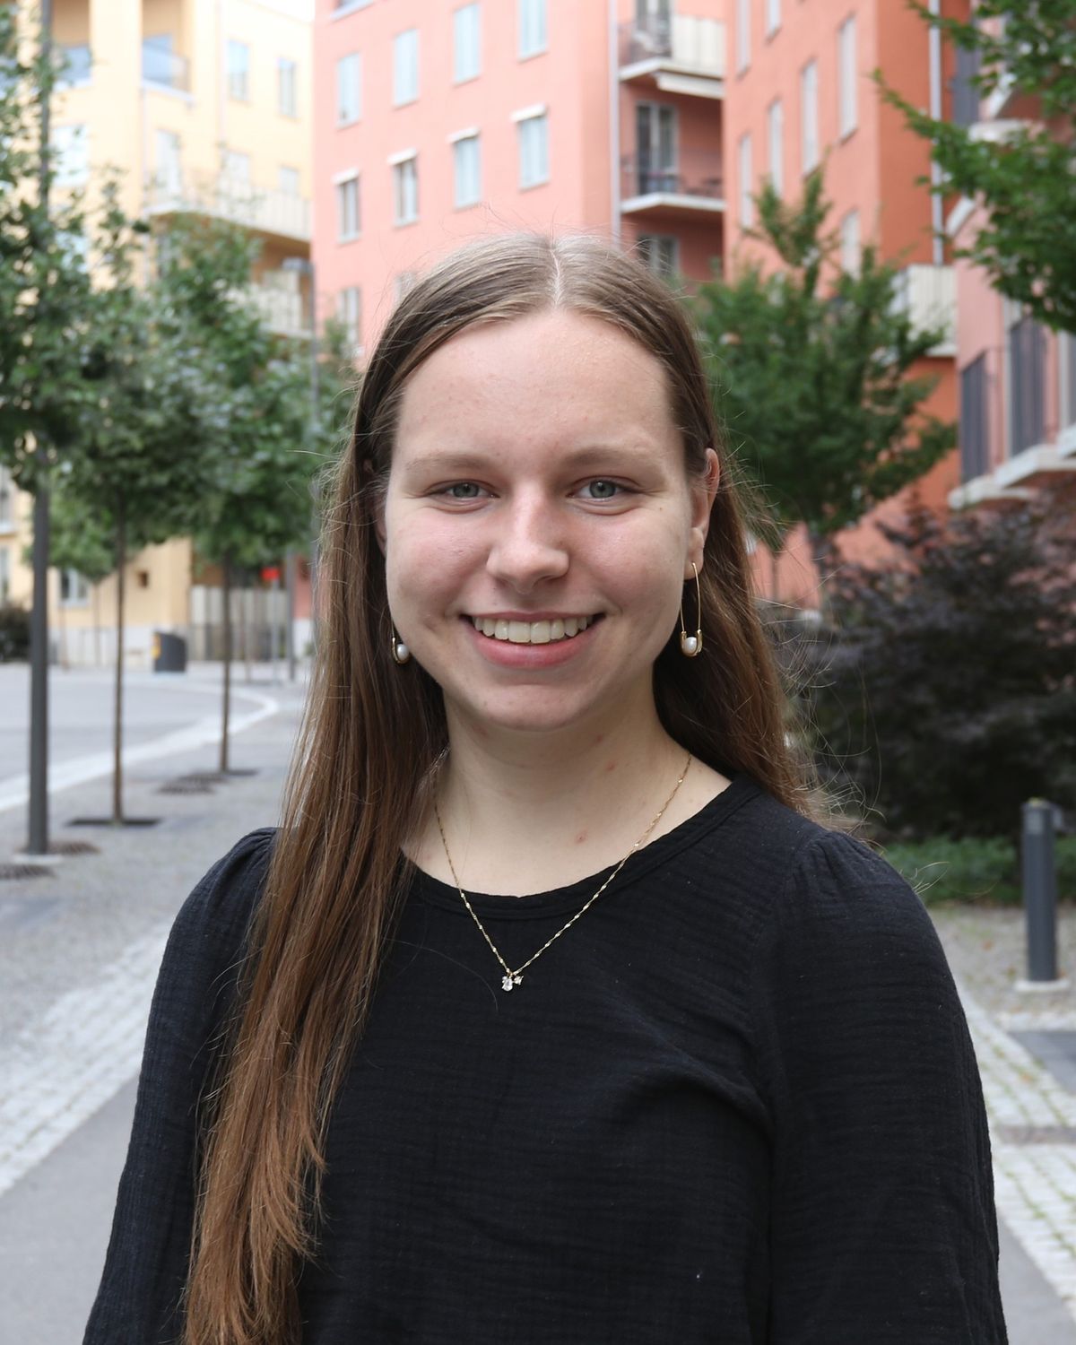
[[[986,222],[954,249],[985,268],[994,285],[1040,321],[1076,332],[1076,0],[979,0],[974,22],[932,15],[925,23],[974,54],[981,98],[1002,93],[1015,110],[985,140],[935,120],[874,78],[942,168],[932,190],[981,203]],[[991,22],[997,20],[997,22]],[[1034,120],[1018,117],[1033,112]]]

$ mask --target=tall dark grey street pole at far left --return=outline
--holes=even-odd
[[[51,65],[52,0],[42,3],[42,63]],[[42,100],[38,192],[48,213],[50,95]],[[40,307],[44,295],[38,295]],[[42,453],[42,443],[36,451]],[[30,835],[27,854],[48,854],[48,475],[39,463],[34,491],[34,603],[30,615]]]

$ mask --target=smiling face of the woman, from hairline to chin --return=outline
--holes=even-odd
[[[430,355],[381,533],[393,621],[449,722],[549,732],[652,707],[716,482],[713,452],[689,482],[662,366],[607,323],[543,312]]]

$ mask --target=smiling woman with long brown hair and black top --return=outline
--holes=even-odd
[[[278,833],[190,897],[91,1345],[999,1345],[933,928],[808,815],[693,336],[472,245],[366,369]]]

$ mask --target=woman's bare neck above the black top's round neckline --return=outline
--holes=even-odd
[[[663,804],[651,839],[698,811],[728,783],[693,763],[652,716],[620,716],[565,733],[491,733],[449,713],[451,751],[437,811],[460,882],[523,896],[617,863]],[[670,800],[675,790],[675,796]],[[452,882],[436,818],[413,858]]]

